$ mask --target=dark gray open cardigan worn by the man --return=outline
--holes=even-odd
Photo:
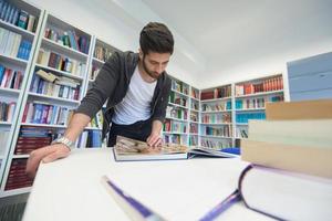
[[[82,113],[93,118],[107,101],[104,112],[103,139],[110,129],[114,106],[125,97],[135,67],[138,64],[138,54],[133,52],[114,52],[102,66],[91,90],[75,113]],[[172,81],[166,72],[157,80],[157,85],[151,103],[153,120],[164,123]]]

